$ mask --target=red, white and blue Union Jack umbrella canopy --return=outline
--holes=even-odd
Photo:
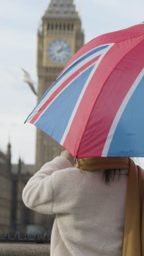
[[[144,22],[84,45],[27,118],[76,158],[144,156]]]

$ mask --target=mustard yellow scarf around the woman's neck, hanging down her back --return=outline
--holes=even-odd
[[[130,158],[77,159],[76,167],[86,171],[129,170],[123,232],[123,256],[144,256],[144,171]]]

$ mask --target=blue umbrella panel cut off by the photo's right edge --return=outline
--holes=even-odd
[[[107,156],[144,156],[143,95],[144,77],[119,120]]]

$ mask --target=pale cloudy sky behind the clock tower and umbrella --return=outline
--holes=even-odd
[[[35,127],[23,122],[37,99],[21,82],[20,68],[32,74],[37,88],[37,28],[49,2],[0,0],[0,149],[6,150],[10,141],[14,163],[19,157],[26,163],[35,161]],[[144,20],[143,0],[75,0],[75,4],[80,11],[85,42]]]

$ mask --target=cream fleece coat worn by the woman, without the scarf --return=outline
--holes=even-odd
[[[29,179],[25,205],[56,214],[52,256],[122,256],[127,173],[106,185],[103,171],[82,171],[58,156]]]

